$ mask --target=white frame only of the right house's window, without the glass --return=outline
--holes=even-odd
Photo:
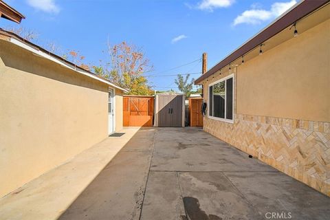
[[[212,87],[212,85],[216,85],[217,83],[221,83],[225,80],[228,80],[229,78],[232,78],[232,119],[227,119],[227,82],[225,82],[225,118],[218,118],[218,117],[214,117],[210,115],[210,87]],[[213,95],[212,95],[212,99],[213,99]],[[213,83],[210,83],[208,85],[208,118],[213,119],[213,120],[218,120],[221,122],[228,122],[231,124],[234,124],[234,100],[235,100],[235,78],[234,78],[234,74],[230,74],[229,76],[225,76],[223,78],[221,78],[220,80],[217,80]],[[212,100],[212,113],[213,113],[213,109],[214,109],[214,101]]]

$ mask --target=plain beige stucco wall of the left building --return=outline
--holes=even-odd
[[[107,137],[107,91],[0,40],[0,197]]]

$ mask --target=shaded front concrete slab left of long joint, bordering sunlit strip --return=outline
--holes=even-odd
[[[150,159],[118,153],[59,219],[139,219]]]

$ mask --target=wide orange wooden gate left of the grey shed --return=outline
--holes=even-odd
[[[153,96],[124,96],[123,125],[153,126]]]

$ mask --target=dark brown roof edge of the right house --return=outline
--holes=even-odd
[[[217,63],[217,65],[214,65],[214,67],[208,70],[208,72],[197,78],[197,80],[195,80],[195,85],[200,83],[205,78],[208,78],[208,76],[211,76],[215,72],[219,71],[221,68],[225,67],[226,65],[236,61],[236,59],[250,52],[255,47],[258,47],[259,45],[261,45],[261,43],[264,43],[268,39],[272,38],[272,36],[275,36],[279,32],[285,30],[285,28],[289,27],[289,25],[292,25],[296,21],[307,16],[307,14],[310,14],[311,12],[314,12],[318,8],[321,8],[329,1],[330,0],[318,0],[318,1],[305,0],[302,1],[301,3],[298,3],[298,5],[292,8],[292,10],[287,12],[287,14],[285,14],[283,17],[279,18],[277,21],[269,25],[259,34],[256,34],[256,36],[252,37],[252,39],[250,39],[248,42],[241,45],[241,47],[239,47],[237,50],[232,52],[232,54],[225,57],[222,61]]]

